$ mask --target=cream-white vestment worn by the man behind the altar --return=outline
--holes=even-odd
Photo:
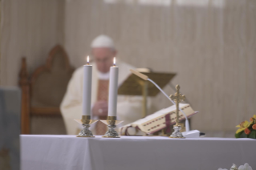
[[[95,103],[97,99],[99,71],[97,71],[95,64],[92,63],[92,84],[91,84],[91,104]],[[119,67],[119,86],[131,74],[130,69],[134,69],[131,65],[116,61],[116,66]],[[78,130],[78,123],[74,119],[81,119],[82,115],[82,99],[83,99],[83,67],[75,70],[72,78],[67,86],[66,95],[61,103],[61,112],[66,125],[67,134],[75,135]],[[142,112],[142,97],[134,95],[118,95],[117,101],[117,119],[124,120],[122,125],[132,123],[136,119],[141,118]],[[92,113],[91,113],[92,114]],[[94,119],[97,119],[94,117]],[[93,126],[91,131],[95,132]]]

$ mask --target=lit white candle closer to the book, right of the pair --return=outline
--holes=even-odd
[[[108,116],[116,116],[117,103],[118,67],[114,58],[113,67],[110,67],[109,88],[108,88]]]

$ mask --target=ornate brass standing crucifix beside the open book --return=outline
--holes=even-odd
[[[176,103],[176,125],[173,126],[174,132],[172,133],[170,138],[185,138],[180,132],[181,125],[179,124],[179,103],[185,100],[185,95],[181,95],[179,85],[176,86],[176,90],[177,92],[175,93],[175,95],[170,95],[170,98],[173,99]]]

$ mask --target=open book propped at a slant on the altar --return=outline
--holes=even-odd
[[[198,111],[193,111],[193,108],[190,107],[190,105],[187,103],[180,103],[179,107],[181,108],[181,110],[185,112],[185,115],[188,118],[191,117],[192,115],[195,115],[198,112]],[[179,111],[179,118],[180,118],[180,121],[185,120],[185,116],[182,114],[181,111]],[[123,127],[120,127],[120,132],[122,135],[126,135],[126,136],[135,135],[133,132],[132,132],[133,134],[128,133],[128,128],[133,127],[146,134],[152,134],[154,132],[160,131],[165,127],[169,127],[175,124],[175,119],[176,119],[176,106],[173,105],[171,107],[161,109],[160,111],[156,111],[152,115],[148,115],[143,119],[138,119],[133,123],[129,123],[127,125],[124,125]]]

